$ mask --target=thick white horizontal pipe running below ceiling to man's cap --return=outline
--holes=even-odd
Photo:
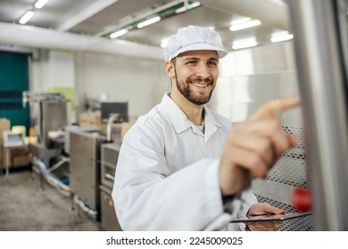
[[[161,47],[0,22],[0,43],[164,60]]]

